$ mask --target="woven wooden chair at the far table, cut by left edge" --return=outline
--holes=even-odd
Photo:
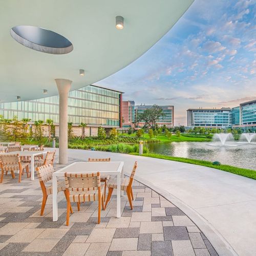
[[[29,175],[29,166],[28,166],[29,163],[21,162],[18,154],[0,156],[0,165],[1,165],[1,169],[2,169],[2,176],[1,176],[0,183],[3,182],[4,172],[6,172],[6,174],[7,174],[9,170],[12,174],[13,179],[15,178],[14,170],[19,171],[18,182],[21,181],[25,168],[26,168],[26,172],[27,172],[27,177],[29,178],[31,175],[31,174]]]

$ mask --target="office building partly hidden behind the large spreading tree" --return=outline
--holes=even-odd
[[[139,113],[143,113],[147,109],[151,109],[153,105],[136,105],[135,106],[135,118],[136,115]],[[159,119],[157,122],[158,126],[163,126],[164,124],[167,127],[173,127],[174,126],[174,106],[166,105],[166,106],[160,106],[162,108],[164,116]],[[139,127],[142,127],[144,125],[144,122],[138,123]]]

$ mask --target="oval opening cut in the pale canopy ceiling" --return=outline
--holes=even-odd
[[[16,26],[10,31],[14,40],[30,49],[51,54],[66,54],[73,50],[64,36],[48,29],[34,26]]]

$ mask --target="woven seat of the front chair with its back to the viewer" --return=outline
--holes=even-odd
[[[70,191],[70,202],[91,202],[98,200],[99,190],[89,190],[89,191]],[[103,187],[100,189],[101,197],[103,195]]]

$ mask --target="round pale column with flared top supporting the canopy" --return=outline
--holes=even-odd
[[[71,80],[55,79],[59,91],[59,163],[68,163],[68,96]]]

